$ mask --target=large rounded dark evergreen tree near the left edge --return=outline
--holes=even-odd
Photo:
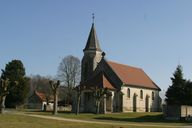
[[[10,81],[9,94],[6,97],[6,107],[16,107],[25,102],[29,91],[29,78],[25,77],[25,68],[20,60],[12,60],[6,64],[3,77]],[[17,81],[18,85],[15,86]]]

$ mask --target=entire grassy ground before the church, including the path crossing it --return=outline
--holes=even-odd
[[[161,113],[80,114],[77,116],[72,113],[59,113],[57,116],[52,116],[50,112],[9,112],[0,115],[0,128],[174,128],[184,126],[192,127],[192,123],[165,121]]]

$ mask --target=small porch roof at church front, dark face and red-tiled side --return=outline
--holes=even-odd
[[[104,73],[100,72],[97,75],[91,77],[82,85],[89,86],[89,87],[100,87],[100,88],[108,88],[108,89],[115,89],[113,84],[106,78]]]

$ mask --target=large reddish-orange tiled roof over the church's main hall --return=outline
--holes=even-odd
[[[108,64],[124,84],[160,90],[142,69],[111,61]]]

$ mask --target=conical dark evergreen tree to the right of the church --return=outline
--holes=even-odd
[[[166,102],[168,105],[184,105],[186,104],[186,83],[187,81],[183,78],[182,66],[178,65],[173,77],[171,78],[172,85],[169,86],[166,92]]]

